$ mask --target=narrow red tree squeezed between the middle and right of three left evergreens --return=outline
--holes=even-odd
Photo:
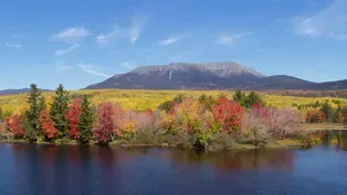
[[[82,102],[81,98],[74,99],[70,110],[67,110],[65,115],[65,119],[67,120],[69,126],[69,136],[73,139],[80,138],[78,122],[80,116],[82,113],[81,102]]]

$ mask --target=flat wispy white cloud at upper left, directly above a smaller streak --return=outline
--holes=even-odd
[[[92,35],[92,33],[85,28],[69,28],[59,33],[52,35],[52,41],[65,41],[65,42],[78,42],[85,37]]]

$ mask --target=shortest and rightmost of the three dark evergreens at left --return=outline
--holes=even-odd
[[[93,110],[87,96],[84,96],[81,104],[81,116],[80,116],[80,142],[87,143],[92,137],[93,129]]]

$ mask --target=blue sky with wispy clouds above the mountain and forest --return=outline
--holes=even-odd
[[[12,0],[0,18],[0,89],[78,89],[171,62],[347,78],[346,0]]]

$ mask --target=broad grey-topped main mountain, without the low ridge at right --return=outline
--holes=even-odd
[[[264,77],[261,73],[233,62],[172,63],[169,65],[140,66],[129,73],[115,75],[86,88],[230,88]]]

